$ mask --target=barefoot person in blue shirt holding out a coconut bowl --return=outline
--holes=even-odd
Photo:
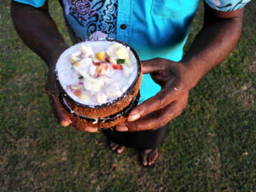
[[[240,37],[244,6],[248,0],[205,0],[204,25],[189,50],[183,45],[199,0],[62,0],[73,43],[90,38],[116,38],[130,44],[143,60],[143,102],[128,120],[103,133],[113,150],[138,148],[143,166],[157,159],[168,122],[187,106],[189,90],[229,55]],[[67,44],[49,15],[46,0],[13,0],[14,26],[25,44],[49,68],[46,90],[55,117],[63,126],[88,132],[97,129],[70,121],[55,100],[55,63]]]

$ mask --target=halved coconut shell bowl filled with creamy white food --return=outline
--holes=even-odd
[[[125,122],[137,106],[143,73],[131,46],[97,39],[65,50],[55,76],[61,104],[72,118],[90,127],[109,128]]]

